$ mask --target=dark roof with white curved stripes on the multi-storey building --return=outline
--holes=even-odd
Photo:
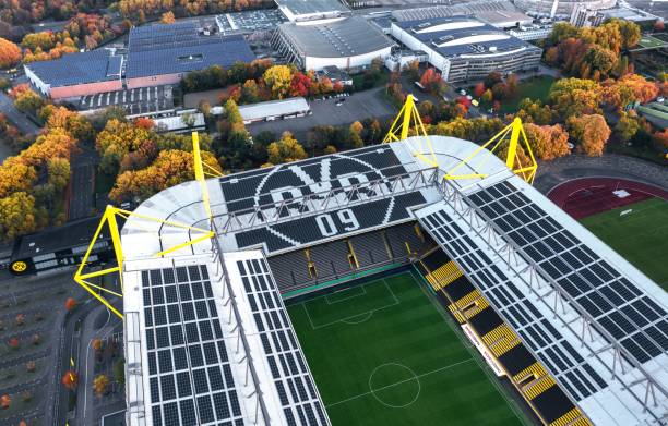
[[[469,16],[402,21],[393,25],[431,45],[444,57],[489,56],[537,49],[516,37]]]

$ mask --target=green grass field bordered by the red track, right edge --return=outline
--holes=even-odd
[[[582,224],[668,291],[668,202],[647,199],[591,216]]]

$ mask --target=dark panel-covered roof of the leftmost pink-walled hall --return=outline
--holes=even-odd
[[[51,87],[62,87],[120,80],[122,62],[123,57],[114,54],[114,50],[97,49],[25,66]]]

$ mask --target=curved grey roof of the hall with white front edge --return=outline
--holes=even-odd
[[[393,42],[375,26],[360,16],[321,25],[279,26],[293,45],[307,57],[345,58],[382,50]]]

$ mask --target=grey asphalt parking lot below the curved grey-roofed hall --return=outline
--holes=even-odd
[[[396,109],[381,97],[380,87],[353,94],[339,106],[337,98],[325,100],[311,100],[312,115],[299,117],[289,120],[269,121],[248,125],[248,131],[255,135],[260,132],[270,131],[281,135],[284,131],[290,131],[298,139],[305,141],[306,135],[317,125],[347,125],[366,118],[387,120],[396,114]]]

